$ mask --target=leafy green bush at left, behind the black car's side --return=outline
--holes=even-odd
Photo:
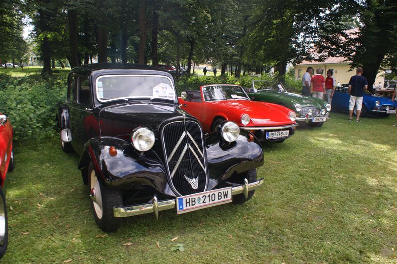
[[[66,74],[46,79],[0,74],[0,111],[11,120],[15,140],[54,134],[56,108],[66,98],[66,87]]]

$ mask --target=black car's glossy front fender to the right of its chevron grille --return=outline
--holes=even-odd
[[[236,141],[231,143],[224,141],[219,131],[208,134],[204,141],[209,171],[208,190],[234,174],[258,168],[264,164],[261,143],[248,131],[240,130]]]

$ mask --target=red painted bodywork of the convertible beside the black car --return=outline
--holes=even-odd
[[[200,87],[201,98],[204,98],[202,88],[206,86],[211,85]],[[182,104],[182,109],[199,119],[205,132],[211,132],[211,125],[216,117],[223,117],[226,120],[233,121],[239,127],[273,127],[295,124],[288,117],[292,111],[281,105],[251,100],[220,100],[210,102],[205,102],[204,100],[202,102],[190,102],[182,98],[178,98],[178,100]],[[250,123],[247,125],[241,123],[241,116],[244,114],[248,114],[251,118]],[[263,119],[268,120],[264,121]]]

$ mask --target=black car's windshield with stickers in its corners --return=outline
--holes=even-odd
[[[96,79],[100,102],[129,98],[160,98],[176,101],[171,80],[159,75],[105,75]]]

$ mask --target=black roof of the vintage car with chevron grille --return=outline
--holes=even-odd
[[[137,73],[144,73],[146,70],[160,71],[161,75],[170,75],[167,71],[160,67],[144,65],[144,64],[133,64],[133,63],[93,63],[77,66],[72,69],[71,72],[91,75],[95,71],[115,71],[121,73],[124,70],[137,70]],[[141,72],[139,72],[141,71]]]

